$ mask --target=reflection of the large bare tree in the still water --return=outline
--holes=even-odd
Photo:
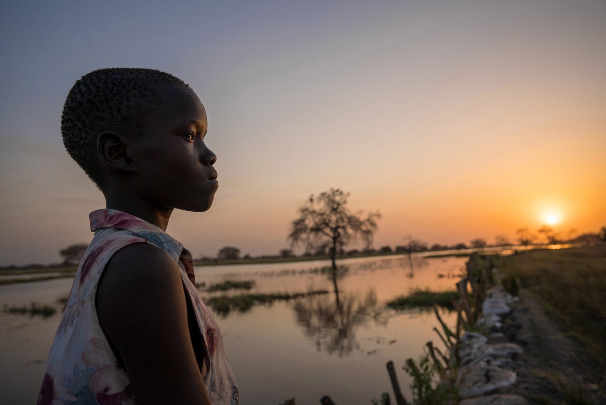
[[[307,296],[297,300],[293,308],[299,324],[305,327],[305,335],[316,340],[318,350],[344,356],[359,347],[355,336],[356,326],[370,320],[386,320],[379,316],[375,289],[368,289],[364,296],[341,292],[338,288],[338,272],[333,272],[330,277],[334,287],[333,296]]]

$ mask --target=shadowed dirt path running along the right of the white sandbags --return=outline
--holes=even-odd
[[[530,292],[521,290],[519,296],[503,330],[524,353],[505,366],[518,373],[518,380],[499,392],[521,395],[530,404],[606,404],[605,376],[584,347],[545,315]]]

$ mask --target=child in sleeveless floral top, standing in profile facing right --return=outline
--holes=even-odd
[[[204,106],[152,69],[100,69],[65,101],[65,149],[106,209],[57,328],[38,404],[239,404],[221,332],[191,253],[164,231],[173,209],[205,211],[218,188]]]

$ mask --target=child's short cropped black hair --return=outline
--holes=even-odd
[[[145,113],[142,105],[159,104],[154,89],[157,84],[190,88],[181,79],[159,70],[112,67],[82,76],[68,93],[61,115],[63,144],[97,186],[103,178],[97,136],[104,130],[126,129],[136,134]]]

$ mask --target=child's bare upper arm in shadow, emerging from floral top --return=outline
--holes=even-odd
[[[210,405],[179,267],[168,253],[148,244],[117,252],[104,270],[96,303],[138,402]]]

